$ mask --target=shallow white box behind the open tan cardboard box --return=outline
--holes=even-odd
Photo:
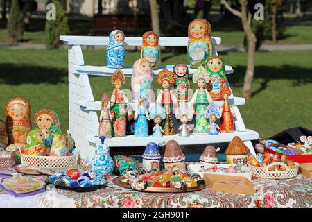
[[[218,167],[224,167],[224,168],[229,168],[232,164],[217,164]],[[248,169],[247,166],[243,166],[243,169],[245,173],[223,173],[223,172],[200,172],[201,166],[205,166],[205,168],[213,167],[214,164],[188,164],[187,165],[187,171],[189,173],[197,173],[199,174],[202,178],[204,178],[204,173],[207,174],[218,174],[218,175],[229,175],[229,176],[243,176],[245,178],[248,178],[248,180],[252,179],[252,174],[250,173],[250,170]]]

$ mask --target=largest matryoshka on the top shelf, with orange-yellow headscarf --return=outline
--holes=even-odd
[[[205,60],[212,56],[211,25],[205,19],[195,19],[189,24],[189,43],[187,51],[191,68],[204,65]]]

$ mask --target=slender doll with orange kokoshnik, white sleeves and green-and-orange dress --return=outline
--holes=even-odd
[[[124,137],[126,130],[126,114],[128,99],[125,93],[121,89],[125,84],[125,76],[120,69],[116,69],[112,74],[112,84],[114,90],[110,98],[110,106],[112,107],[112,126],[114,137]]]

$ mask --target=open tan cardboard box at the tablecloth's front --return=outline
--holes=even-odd
[[[242,176],[225,176],[225,175],[213,175],[204,174],[206,185],[212,191],[222,191],[232,194],[250,194],[256,193],[256,188],[254,184],[245,177]],[[229,185],[223,182],[229,181],[241,181],[245,185]]]

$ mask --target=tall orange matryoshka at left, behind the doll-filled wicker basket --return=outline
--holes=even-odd
[[[26,143],[31,130],[31,105],[26,99],[16,97],[6,103],[6,130],[9,144]]]

